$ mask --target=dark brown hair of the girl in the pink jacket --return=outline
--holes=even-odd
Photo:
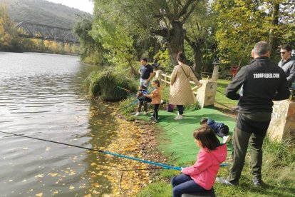
[[[207,148],[209,151],[220,146],[220,142],[215,132],[207,125],[196,128],[193,136],[196,140],[202,143],[203,148]]]

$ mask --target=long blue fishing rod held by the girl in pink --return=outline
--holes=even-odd
[[[118,157],[121,157],[121,158],[127,158],[127,159],[131,159],[131,160],[135,160],[135,161],[140,161],[140,162],[143,162],[143,163],[149,163],[151,165],[160,166],[160,167],[166,168],[166,169],[174,169],[174,170],[177,170],[177,171],[181,171],[181,167],[168,166],[168,165],[165,165],[165,164],[162,164],[162,163],[156,163],[156,162],[153,162],[153,161],[147,161],[147,160],[144,160],[144,159],[141,159],[141,158],[135,158],[135,157],[131,157],[131,156],[124,156],[124,155],[121,155],[121,154],[118,154],[118,153],[111,153],[111,152],[108,152],[108,151],[101,151],[101,150],[98,150],[98,149],[87,148],[87,147],[83,147],[83,146],[77,146],[77,145],[70,144],[70,143],[62,143],[62,142],[58,142],[58,141],[46,140],[46,139],[43,139],[43,138],[35,138],[35,137],[31,137],[31,136],[24,136],[24,135],[21,135],[21,134],[9,133],[9,132],[4,132],[4,131],[0,131],[0,132],[1,133],[6,133],[6,134],[9,134],[9,135],[13,135],[13,136],[21,136],[21,137],[24,137],[24,138],[32,138],[32,139],[36,139],[36,140],[39,140],[39,141],[47,141],[47,142],[58,143],[58,144],[66,145],[66,146],[73,146],[73,147],[76,147],[76,148],[83,148],[83,149],[86,149],[88,151],[95,151],[95,152],[99,152],[99,153],[108,154],[108,155],[111,155],[111,156],[118,156]]]

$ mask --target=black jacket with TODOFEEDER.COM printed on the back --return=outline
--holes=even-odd
[[[242,85],[243,96],[240,97],[237,91]],[[227,86],[226,96],[239,100],[240,113],[271,113],[272,101],[289,98],[290,91],[284,70],[264,56],[242,67]]]

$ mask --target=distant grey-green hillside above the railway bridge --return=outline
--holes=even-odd
[[[73,29],[78,15],[90,16],[87,12],[45,0],[0,0],[0,4],[3,1],[6,3],[9,17],[16,22],[26,21]]]

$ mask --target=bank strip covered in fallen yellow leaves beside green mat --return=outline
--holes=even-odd
[[[125,156],[142,158],[148,161],[166,163],[167,158],[157,150],[157,128],[146,121],[130,122],[117,118],[118,130],[106,148],[107,151]],[[108,156],[113,157],[113,156]],[[108,174],[103,175],[110,180],[113,193],[105,196],[135,196],[140,189],[152,183],[157,166],[126,158],[114,158],[120,164],[108,163]],[[148,170],[144,170],[148,169]]]

